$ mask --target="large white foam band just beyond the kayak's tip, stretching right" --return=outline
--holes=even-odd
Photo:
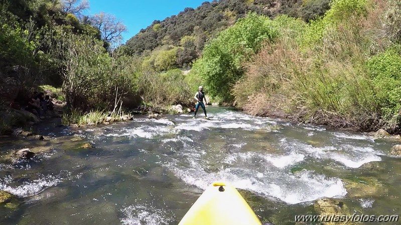
[[[266,196],[276,197],[288,204],[313,201],[321,197],[344,197],[347,194],[339,178],[303,171],[292,174],[261,173],[244,168],[227,168],[217,173],[206,173],[196,168],[177,168],[168,165],[185,183],[206,189],[212,182],[230,182],[236,188],[247,189]]]

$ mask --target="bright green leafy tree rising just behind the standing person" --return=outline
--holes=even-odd
[[[264,40],[273,41],[276,36],[271,20],[249,14],[205,46],[194,64],[194,73],[202,77],[212,97],[232,102],[230,89],[243,75],[242,63],[260,49]]]

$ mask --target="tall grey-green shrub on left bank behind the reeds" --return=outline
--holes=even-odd
[[[65,35],[59,43],[63,90],[73,107],[110,107],[116,94],[135,91],[136,71],[140,63],[128,56],[112,57],[103,42],[86,35]]]

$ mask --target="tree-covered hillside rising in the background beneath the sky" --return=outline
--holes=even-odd
[[[329,9],[329,0],[220,0],[204,2],[197,9],[186,8],[178,15],[154,21],[148,28],[129,39],[129,54],[146,57],[146,63],[157,70],[192,65],[207,40],[249,12],[267,17],[280,14],[309,21]]]

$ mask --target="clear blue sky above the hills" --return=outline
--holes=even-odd
[[[104,12],[122,20],[128,30],[123,34],[125,43],[154,20],[162,21],[166,17],[177,15],[187,7],[195,9],[203,2],[206,0],[89,0],[90,9],[87,14]]]

